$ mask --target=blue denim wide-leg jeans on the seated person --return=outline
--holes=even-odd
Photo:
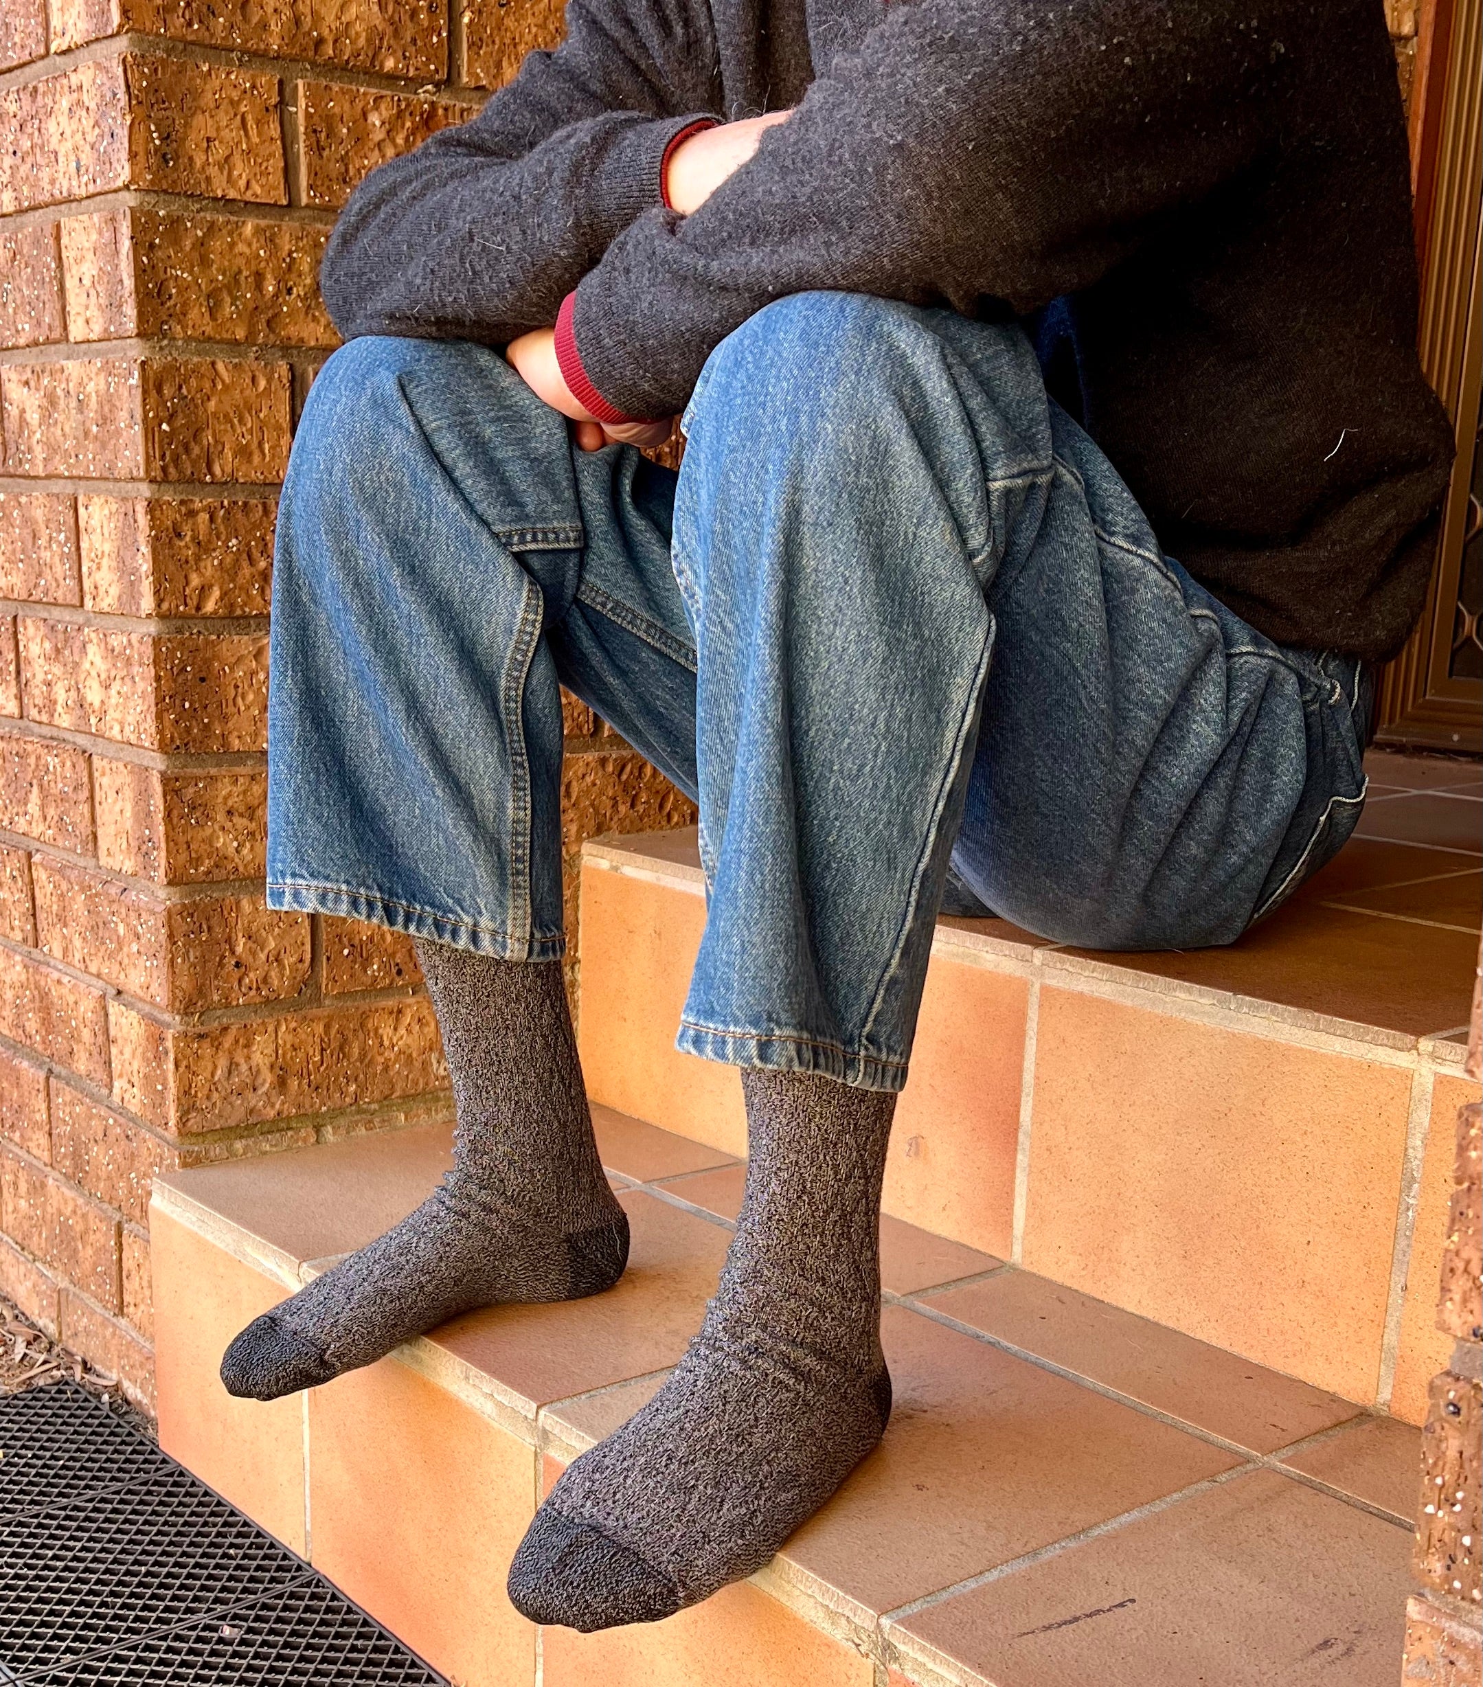
[[[1351,660],[1164,557],[1016,326],[803,294],[675,476],[494,351],[359,339],[278,518],[268,896],[562,951],[567,685],[700,805],[680,1048],[896,1090],[950,864],[1029,931],[1230,943],[1358,820]]]

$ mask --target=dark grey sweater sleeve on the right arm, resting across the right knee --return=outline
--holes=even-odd
[[[1259,167],[1297,46],[1279,17],[1287,0],[896,5],[693,216],[651,209],[612,241],[567,358],[612,413],[661,417],[785,294],[973,315],[1088,287]]]

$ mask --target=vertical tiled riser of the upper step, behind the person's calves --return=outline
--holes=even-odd
[[[594,1100],[744,1154],[736,1073],[673,1046],[704,921],[697,869],[587,847],[582,1061]],[[886,1211],[1422,1422],[1453,1051],[1108,973],[940,931]]]

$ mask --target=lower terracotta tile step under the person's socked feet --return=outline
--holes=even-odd
[[[560,1466],[683,1351],[741,1178],[636,1118],[597,1125],[633,1225],[616,1289],[469,1314],[270,1405],[223,1392],[226,1341],[417,1205],[447,1132],[160,1179],[162,1444],[467,1687],[1265,1687],[1335,1648],[1346,1687],[1395,1680],[1414,1429],[889,1220],[882,1447],[751,1582],[660,1625],[537,1635],[510,1555]]]

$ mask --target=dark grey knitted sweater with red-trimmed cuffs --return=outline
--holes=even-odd
[[[572,0],[567,29],[354,192],[321,275],[346,336],[503,344],[575,288],[597,393],[660,417],[783,294],[1073,295],[1066,398],[1166,552],[1282,643],[1404,641],[1451,428],[1380,0]],[[687,121],[790,105],[663,209]]]

